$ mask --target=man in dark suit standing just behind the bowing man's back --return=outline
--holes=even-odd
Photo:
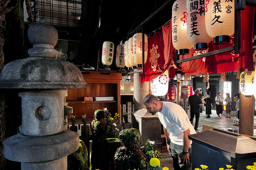
[[[189,96],[188,104],[190,104],[190,122],[193,124],[194,117],[196,116],[196,122],[194,129],[197,130],[199,117],[200,117],[200,108],[202,107],[202,99],[198,96],[200,94],[199,90],[195,91],[194,95]]]

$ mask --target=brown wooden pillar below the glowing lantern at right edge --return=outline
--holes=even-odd
[[[239,133],[253,136],[254,96],[245,96],[240,92]]]

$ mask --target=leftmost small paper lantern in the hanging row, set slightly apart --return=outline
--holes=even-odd
[[[104,65],[111,65],[113,62],[114,43],[105,41],[102,45],[102,57],[101,62]]]

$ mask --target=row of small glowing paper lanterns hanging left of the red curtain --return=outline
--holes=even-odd
[[[147,61],[148,37],[144,35],[145,63]],[[109,67],[113,62],[114,43],[105,41],[102,45],[102,64]],[[116,48],[116,66],[119,68],[135,68],[142,65],[142,33],[135,33],[129,40]]]

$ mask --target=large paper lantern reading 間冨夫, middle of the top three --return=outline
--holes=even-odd
[[[187,35],[195,50],[207,49],[212,38],[205,28],[204,0],[187,0]]]

